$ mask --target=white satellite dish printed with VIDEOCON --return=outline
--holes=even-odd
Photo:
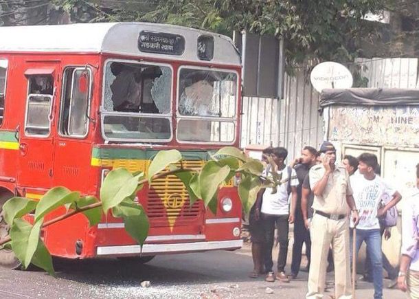
[[[354,79],[349,69],[340,63],[326,61],[316,65],[311,71],[310,82],[321,93],[325,88],[350,88]]]

